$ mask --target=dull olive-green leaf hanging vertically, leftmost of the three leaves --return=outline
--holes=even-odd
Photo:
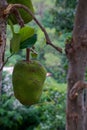
[[[14,33],[10,41],[10,52],[17,53],[20,49],[21,36],[19,33]]]

